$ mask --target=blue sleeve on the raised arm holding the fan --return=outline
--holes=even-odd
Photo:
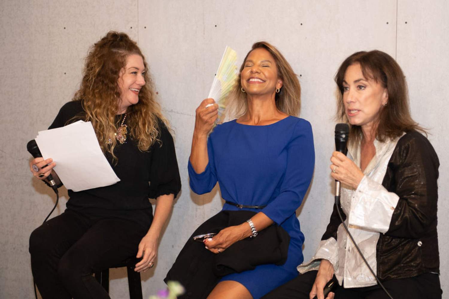
[[[190,188],[196,194],[211,192],[217,183],[211,135],[207,138],[207,156],[209,157],[209,163],[207,163],[206,169],[204,169],[202,173],[196,173],[192,164],[190,164],[190,159],[189,164],[187,165],[187,169],[189,170]]]

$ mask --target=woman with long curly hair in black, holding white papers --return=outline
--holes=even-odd
[[[92,46],[79,91],[49,127],[91,121],[120,182],[69,190],[66,211],[31,234],[31,269],[45,299],[109,298],[93,272],[131,256],[141,258],[136,271],[154,265],[180,177],[147,70],[137,44],[124,33],[109,32]],[[30,170],[44,180],[50,173],[57,177],[55,165],[51,158],[36,158]],[[154,217],[148,198],[157,199]]]

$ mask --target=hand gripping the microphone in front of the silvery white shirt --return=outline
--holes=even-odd
[[[357,189],[364,176],[361,169],[341,152],[333,152],[330,161],[332,162],[330,165],[332,178]]]

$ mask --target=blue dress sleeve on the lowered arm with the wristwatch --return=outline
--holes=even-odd
[[[287,168],[279,195],[262,212],[278,225],[295,213],[312,180],[315,165],[312,126],[300,120],[287,145]]]

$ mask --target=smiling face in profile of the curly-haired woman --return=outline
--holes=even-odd
[[[118,80],[120,88],[118,114],[125,113],[129,106],[139,102],[139,91],[145,85],[144,74],[145,65],[142,56],[129,55]]]

